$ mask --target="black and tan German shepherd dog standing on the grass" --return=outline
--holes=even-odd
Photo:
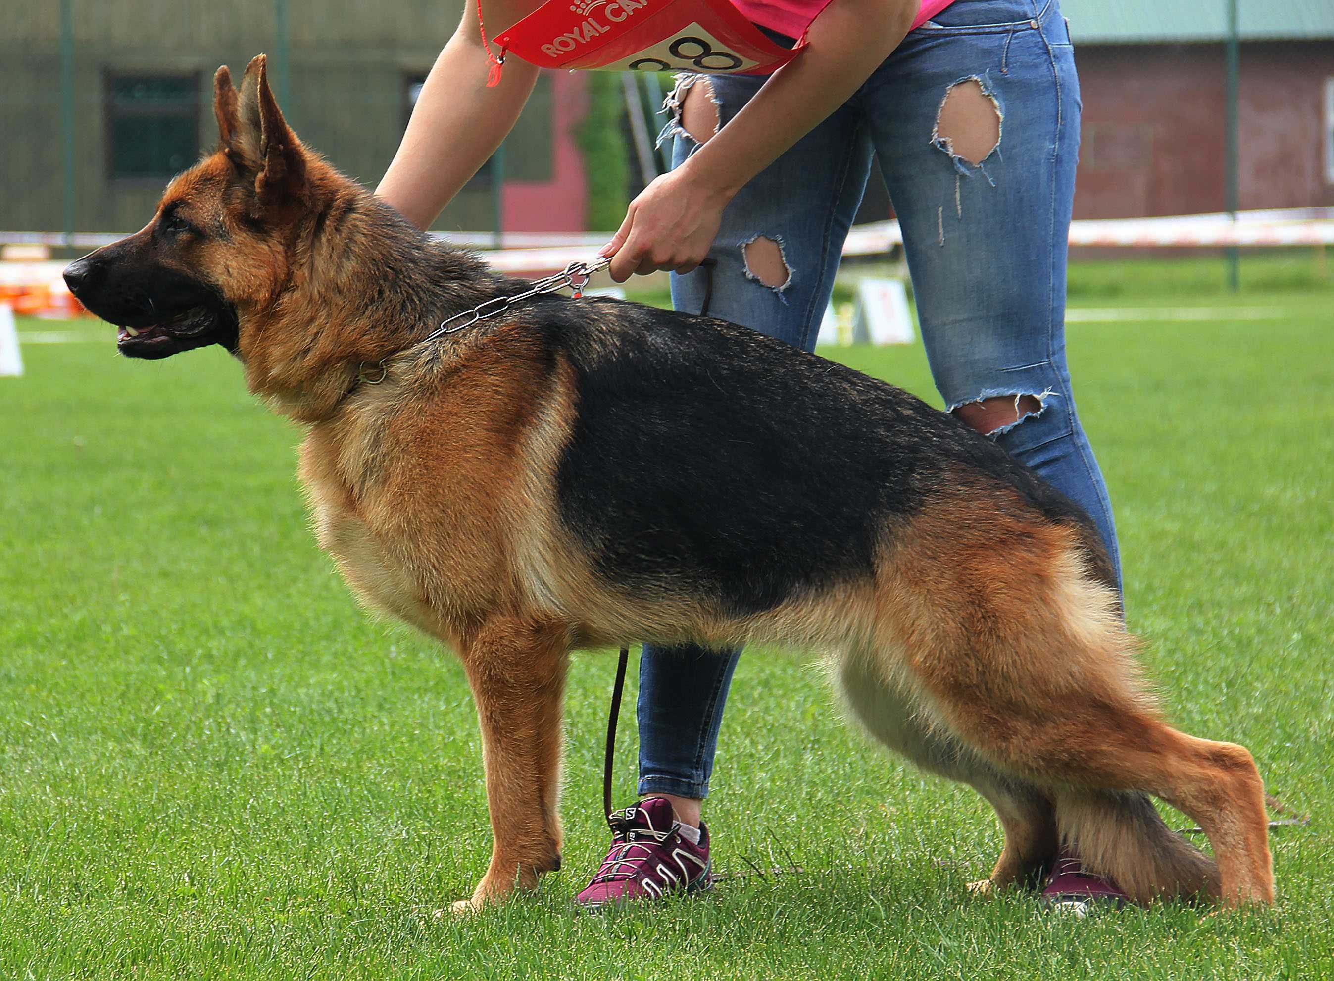
[[[567,659],[622,641],[827,654],[874,738],[995,806],[980,892],[1073,842],[1139,902],[1273,900],[1250,753],[1163,722],[1094,526],[986,436],[751,330],[634,303],[535,296],[426,340],[527,284],[307,149],[263,56],[239,91],[217,71],[215,111],[216,151],[67,279],[129,358],[231,351],[304,423],[316,534],[354,593],[462,657],[494,850],[456,905],[559,868]]]

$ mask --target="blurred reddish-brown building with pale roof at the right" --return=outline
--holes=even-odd
[[[1227,208],[1223,0],[1063,0],[1083,93],[1075,218]],[[1334,204],[1334,0],[1239,0],[1238,207]]]

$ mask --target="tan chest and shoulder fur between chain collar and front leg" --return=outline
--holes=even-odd
[[[531,523],[522,444],[539,383],[486,360],[444,376],[403,366],[300,450],[317,541],[358,598],[446,639],[527,606],[510,543]]]

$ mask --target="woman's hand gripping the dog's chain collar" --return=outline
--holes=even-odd
[[[614,256],[611,278],[624,283],[636,272],[694,270],[708,255],[732,194],[702,180],[688,161],[654,178],[599,252]]]

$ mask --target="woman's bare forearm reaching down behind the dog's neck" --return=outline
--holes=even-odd
[[[511,57],[500,84],[487,88],[488,68],[475,8],[467,3],[458,31],[422,85],[394,163],[375,190],[419,228],[430,226],[495,152],[538,80],[534,65]]]

